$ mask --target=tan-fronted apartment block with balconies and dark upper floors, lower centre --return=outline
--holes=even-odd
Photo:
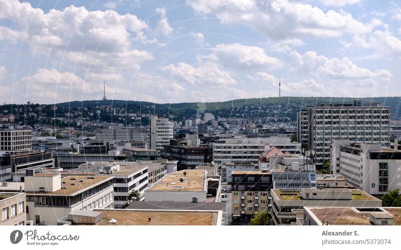
[[[255,214],[268,210],[269,192],[273,186],[271,172],[234,171],[232,176],[233,217],[249,220]]]

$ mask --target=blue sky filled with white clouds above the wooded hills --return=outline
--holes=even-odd
[[[0,103],[401,96],[401,1],[0,0]]]

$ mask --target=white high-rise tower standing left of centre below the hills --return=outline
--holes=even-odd
[[[173,138],[173,127],[168,118],[157,118],[151,116],[149,118],[149,142],[150,149],[163,150],[164,145],[170,144]]]

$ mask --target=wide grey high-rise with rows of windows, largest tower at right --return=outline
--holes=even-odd
[[[332,140],[389,144],[390,108],[360,101],[321,104],[298,111],[297,139],[314,152],[316,166],[330,160]],[[307,141],[306,141],[307,138]]]

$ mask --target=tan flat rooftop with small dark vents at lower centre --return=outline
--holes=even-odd
[[[184,173],[186,174],[184,175]],[[205,170],[181,170],[165,175],[148,191],[206,191],[206,177]]]

